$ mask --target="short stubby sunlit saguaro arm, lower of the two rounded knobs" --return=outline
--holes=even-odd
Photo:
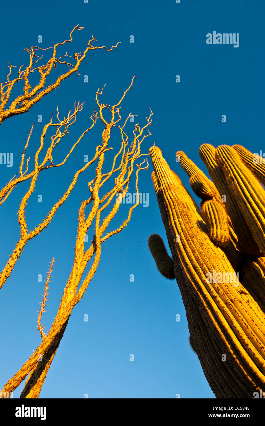
[[[225,247],[230,241],[229,227],[225,208],[215,199],[202,205],[205,223],[210,231],[211,241],[219,247]]]

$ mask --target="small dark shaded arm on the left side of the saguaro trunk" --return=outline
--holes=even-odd
[[[156,261],[158,271],[165,278],[174,279],[173,260],[167,254],[164,242],[158,234],[150,235],[148,239],[148,247],[153,258]]]

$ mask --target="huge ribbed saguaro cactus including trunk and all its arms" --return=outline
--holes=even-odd
[[[199,154],[212,181],[182,151],[176,157],[201,210],[161,150],[150,148],[173,262],[158,236],[149,247],[167,278],[173,267],[190,344],[216,397],[253,398],[265,391],[265,165],[239,145],[204,144]]]

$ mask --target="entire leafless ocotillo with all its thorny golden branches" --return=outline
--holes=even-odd
[[[79,27],[77,29],[80,29]],[[72,33],[71,33],[72,34]],[[72,37],[71,37],[72,40]],[[66,40],[66,41],[71,41]],[[93,38],[94,40],[94,38]],[[64,42],[65,43],[65,42]],[[64,43],[58,43],[64,44]],[[88,49],[95,49],[92,45],[92,40],[89,41],[88,48],[81,56],[84,58],[85,53]],[[56,47],[58,45],[55,45]],[[56,63],[66,63],[65,61],[61,61],[61,57],[59,59],[55,58],[56,48],[54,48],[53,56],[50,61],[48,61],[47,66],[44,68],[40,67],[38,71],[41,75],[41,84],[36,86],[35,89],[32,89],[30,92],[29,86],[29,73],[34,72],[37,68],[32,69],[32,60],[35,57],[35,52],[37,48],[32,48],[30,51],[31,65],[26,68],[26,71],[19,73],[19,79],[24,79],[25,87],[24,95],[21,95],[17,98],[14,103],[12,103],[12,107],[7,107],[4,112],[6,101],[9,100],[9,95],[12,91],[12,87],[17,79],[10,82],[8,80],[7,83],[3,85],[6,92],[1,92],[1,100],[2,100],[2,109],[0,110],[0,118],[1,120],[5,120],[6,118],[12,117],[17,114],[22,114],[23,112],[27,112],[29,108],[40,98],[49,93],[52,89],[56,88],[56,84],[48,87],[47,91],[42,91],[43,85],[45,83],[45,78],[43,76],[44,69],[49,69],[51,71],[52,66],[56,66]],[[106,49],[106,48],[105,48]],[[107,49],[106,49],[107,50]],[[80,54],[75,54],[75,60],[77,61],[77,66],[72,68],[71,64],[67,64],[71,72],[75,72],[78,69],[78,66],[81,61]],[[69,72],[70,72],[69,71]],[[10,69],[11,72],[11,69]],[[66,78],[68,75],[66,73],[64,76],[61,76],[58,84],[63,78]],[[40,146],[37,148],[37,152],[35,153],[35,158],[33,161],[33,167],[31,167],[30,159],[27,160],[26,170],[23,171],[24,168],[24,156],[25,151],[28,147],[33,126],[29,133],[28,140],[24,147],[21,163],[19,167],[19,176],[14,176],[10,179],[9,183],[3,188],[0,192],[0,197],[3,202],[9,202],[9,195],[11,191],[17,187],[23,181],[29,180],[29,190],[26,192],[25,196],[23,196],[22,201],[20,202],[19,210],[18,210],[18,223],[20,225],[20,240],[17,243],[14,252],[10,256],[9,261],[7,262],[5,268],[3,269],[2,274],[0,275],[0,287],[6,282],[6,279],[12,273],[15,263],[20,257],[21,252],[26,246],[27,242],[37,236],[40,232],[42,232],[47,225],[51,222],[55,212],[58,210],[60,205],[62,205],[67,197],[69,196],[72,188],[75,186],[76,181],[80,173],[83,173],[89,166],[93,166],[95,161],[97,165],[95,169],[92,170],[92,180],[88,182],[88,187],[84,188],[81,191],[81,205],[79,208],[79,214],[77,219],[77,237],[75,244],[75,253],[73,258],[72,270],[69,271],[69,279],[66,282],[66,286],[63,291],[63,296],[61,298],[60,306],[58,308],[58,312],[55,316],[55,320],[52,323],[51,328],[45,334],[43,329],[43,325],[41,323],[42,314],[44,312],[44,308],[46,306],[47,300],[47,291],[48,284],[52,285],[51,272],[54,267],[55,259],[52,258],[52,263],[49,269],[49,273],[46,278],[43,301],[40,304],[40,311],[37,318],[37,329],[40,331],[40,336],[42,341],[34,353],[29,357],[29,359],[23,363],[22,367],[17,371],[16,374],[6,383],[3,390],[0,392],[0,396],[10,397],[12,391],[20,385],[27,378],[26,385],[20,395],[21,398],[38,398],[40,394],[40,390],[42,388],[43,382],[46,378],[46,374],[51,366],[52,360],[55,356],[55,352],[60,344],[60,341],[63,337],[63,333],[66,329],[67,323],[69,321],[70,314],[75,307],[75,305],[81,300],[84,296],[86,288],[88,287],[92,277],[95,274],[95,271],[98,267],[100,257],[101,257],[101,244],[104,243],[107,239],[112,237],[113,235],[121,232],[125,226],[130,222],[130,218],[132,215],[132,210],[139,204],[139,192],[138,192],[138,173],[140,170],[147,169],[148,161],[145,162],[143,158],[141,158],[144,154],[141,153],[141,144],[144,139],[149,136],[151,133],[149,131],[149,127],[152,122],[152,111],[150,110],[150,115],[146,117],[146,124],[142,127],[139,124],[135,124],[134,130],[132,130],[132,136],[130,137],[126,133],[126,125],[132,116],[132,113],[127,115],[124,121],[121,121],[121,103],[127,94],[128,90],[131,88],[134,77],[129,85],[129,87],[125,90],[119,101],[114,105],[109,105],[100,102],[100,97],[104,94],[103,89],[98,89],[96,92],[96,108],[98,111],[94,112],[91,117],[92,125],[89,129],[85,130],[82,135],[78,138],[78,141],[72,146],[69,153],[63,159],[63,161],[59,164],[55,164],[53,159],[54,148],[57,144],[59,144],[61,138],[63,138],[67,133],[69,133],[69,126],[75,122],[75,118],[78,112],[82,110],[82,105],[79,104],[75,106],[74,112],[71,114],[69,112],[68,116],[63,120],[59,119],[59,113],[57,115],[58,122],[53,123],[51,121],[46,124],[43,129],[43,133],[40,137]],[[2,86],[1,86],[2,88]],[[40,96],[38,97],[37,92],[40,90]],[[21,105],[19,105],[21,104]],[[35,185],[37,181],[37,177],[43,170],[49,169],[51,167],[60,167],[65,163],[65,161],[69,158],[69,155],[72,153],[75,146],[81,141],[84,134],[94,127],[97,117],[101,120],[103,124],[103,132],[99,138],[99,144],[95,147],[95,154],[90,161],[87,161],[85,166],[78,170],[72,182],[69,185],[69,188],[63,194],[61,199],[52,207],[51,211],[43,222],[37,225],[33,230],[29,231],[27,229],[26,222],[26,214],[25,207],[29,197],[32,196],[32,193],[35,190]],[[1,122],[0,120],[0,122]],[[46,131],[49,127],[55,126],[56,132],[51,136],[51,143],[48,143],[48,147],[45,148],[45,135]],[[115,134],[116,131],[116,134]],[[117,135],[121,138],[120,146],[115,146],[115,151],[111,155],[113,147],[111,146],[111,133],[115,137],[115,142],[117,144]],[[47,138],[46,138],[47,139]],[[39,154],[41,151],[44,151],[44,159],[40,160]],[[109,160],[110,155],[110,165],[107,170],[104,170],[104,160]],[[137,164],[140,159],[139,164]],[[109,164],[109,162],[108,162]],[[137,168],[136,168],[137,166]],[[105,164],[105,167],[106,164]],[[91,169],[91,167],[90,167]],[[135,171],[136,169],[136,171]],[[45,172],[44,172],[45,173]],[[132,184],[132,181],[133,184]],[[125,212],[125,218],[121,219],[118,227],[117,225],[112,225],[112,219],[115,217],[118,212],[119,206],[121,204],[122,199],[126,196],[126,193],[129,189],[129,185],[131,184],[135,188],[135,193],[137,195],[137,201],[132,204],[130,208]],[[15,191],[12,195],[14,195]],[[106,215],[103,217],[102,215]],[[89,244],[89,248],[86,249],[85,242],[89,241],[89,236],[91,237],[91,243]],[[89,271],[85,271],[88,263],[91,262]],[[81,281],[82,280],[82,281]]]

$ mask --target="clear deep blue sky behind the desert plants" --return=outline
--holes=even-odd
[[[202,143],[242,144],[252,152],[264,150],[263,1],[47,0],[45,5],[33,1],[12,5],[10,15],[10,4],[1,2],[2,16],[9,17],[2,20],[0,28],[1,81],[6,81],[8,62],[18,66],[27,63],[23,49],[35,46],[38,35],[43,37],[40,47],[45,48],[68,38],[75,25],[84,26],[74,34],[73,42],[60,50],[70,55],[82,51],[91,34],[98,46],[121,44],[112,52],[89,52],[78,78],[72,75],[28,113],[1,125],[0,152],[14,153],[13,167],[0,164],[1,187],[17,173],[27,135],[38,115],[43,115],[43,123],[35,126],[29,153],[35,152],[42,127],[57,104],[65,115],[74,101],[85,101],[58,150],[58,158],[63,158],[87,127],[96,90],[106,84],[104,102],[113,104],[133,75],[138,78],[123,102],[123,117],[132,112],[143,125],[152,108],[152,136],[145,139],[142,152],[147,153],[156,142],[187,188],[188,177],[175,161],[178,150],[205,172],[198,154]],[[206,34],[213,31],[239,33],[239,47],[207,45]],[[131,35],[134,43],[130,43]],[[84,75],[89,76],[88,83],[84,83]],[[180,75],[180,83],[176,83],[176,75]],[[223,114],[226,123],[221,121]],[[40,174],[26,208],[28,229],[35,227],[65,192],[84,155],[91,156],[99,144],[101,132],[100,126],[89,132],[61,169]],[[113,138],[112,146],[118,148],[119,144],[119,139]],[[72,311],[40,398],[84,398],[85,394],[89,398],[214,397],[188,343],[187,320],[176,281],[158,273],[148,250],[151,233],[159,233],[166,242],[152,170],[150,164],[149,170],[139,175],[139,191],[149,193],[149,206],[139,205],[130,224],[102,245],[98,270]],[[78,179],[50,225],[28,243],[1,289],[2,385],[40,344],[35,331],[43,283],[37,276],[45,275],[52,257],[56,263],[49,305],[43,315],[46,331],[55,317],[72,267],[78,209],[89,196],[90,173]],[[29,181],[20,184],[0,206],[1,270],[19,239],[16,212],[28,187]],[[43,195],[42,203],[37,202],[37,194]],[[121,223],[123,212],[121,209],[113,227]],[[134,282],[130,282],[130,274],[134,274]],[[180,322],[175,321],[176,314],[180,314]],[[130,354],[134,354],[134,362],[130,362]],[[23,383],[14,391],[14,398],[22,389]]]

